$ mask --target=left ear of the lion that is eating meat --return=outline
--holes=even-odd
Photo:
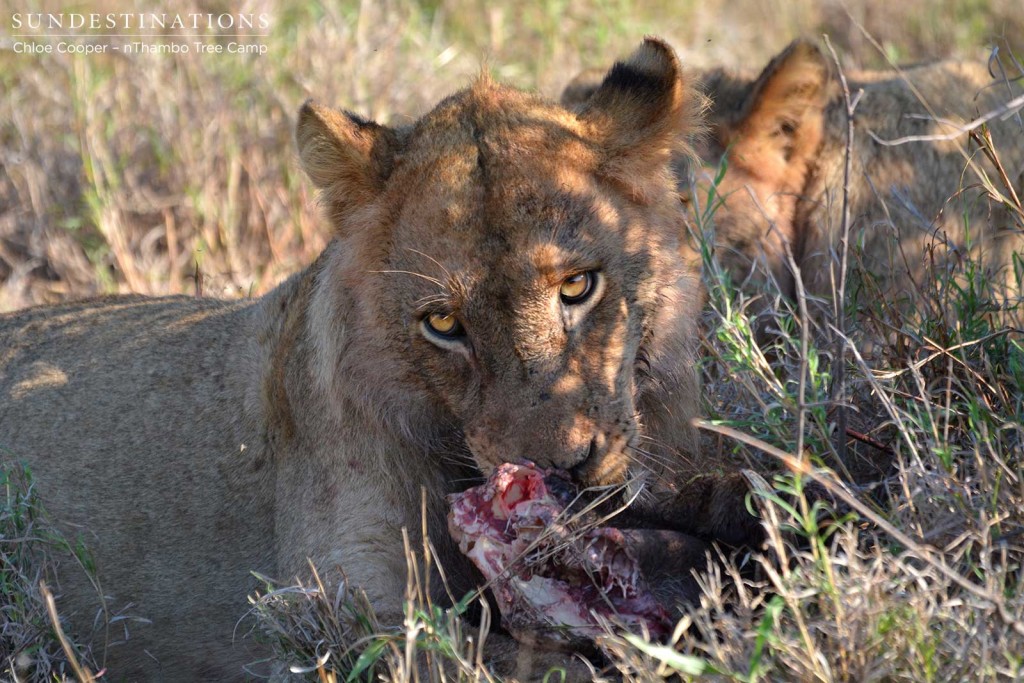
[[[377,197],[396,147],[389,128],[312,100],[299,110],[295,140],[302,168],[337,218]]]

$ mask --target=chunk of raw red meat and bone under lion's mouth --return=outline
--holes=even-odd
[[[449,528],[489,583],[503,626],[554,646],[601,634],[602,621],[666,635],[673,622],[641,575],[631,532],[565,512],[573,493],[564,472],[504,464],[449,497]]]

